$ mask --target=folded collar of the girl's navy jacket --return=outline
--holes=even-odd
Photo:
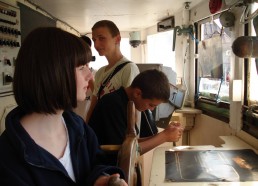
[[[52,154],[38,146],[21,126],[20,118],[23,115],[25,113],[22,109],[16,107],[6,117],[6,133],[18,155],[33,166],[59,170],[67,175],[62,164]],[[79,117],[73,112],[64,112],[63,117],[69,131],[70,147],[74,148],[75,152],[78,152],[77,148],[84,135],[83,125],[78,125],[78,122],[82,121],[79,121]]]

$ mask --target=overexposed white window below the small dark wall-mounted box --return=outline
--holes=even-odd
[[[175,71],[175,52],[172,51],[173,30],[147,36],[147,63],[161,63]]]

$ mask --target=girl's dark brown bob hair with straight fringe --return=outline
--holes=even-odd
[[[13,91],[27,113],[55,114],[77,106],[75,68],[91,60],[89,46],[56,27],[33,30],[16,60]]]

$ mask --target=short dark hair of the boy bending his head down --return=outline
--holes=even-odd
[[[145,70],[138,74],[132,84],[132,88],[142,91],[143,99],[159,99],[168,101],[170,96],[170,85],[167,76],[156,69]]]

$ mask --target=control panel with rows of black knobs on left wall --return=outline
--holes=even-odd
[[[20,10],[0,1],[0,96],[12,94],[15,60],[21,45]]]

